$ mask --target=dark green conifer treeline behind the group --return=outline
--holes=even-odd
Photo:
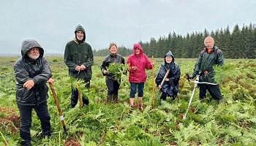
[[[256,27],[252,23],[242,28],[236,24],[232,32],[229,26],[211,33],[205,28],[203,32],[192,32],[186,37],[173,31],[167,37],[159,37],[158,40],[152,37],[149,42],[139,43],[148,57],[154,55],[161,58],[171,50],[175,58],[197,58],[203,50],[203,40],[209,35],[214,37],[215,45],[223,51],[224,58],[256,58]],[[94,50],[94,55],[108,54],[108,49]],[[118,54],[128,56],[132,54],[132,49],[118,47]]]

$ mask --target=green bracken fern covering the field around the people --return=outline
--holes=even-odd
[[[19,112],[15,101],[15,76],[13,64],[18,57],[0,58],[0,145],[19,145]],[[198,89],[186,112],[192,88],[185,77],[191,73],[195,59],[176,59],[181,67],[178,96],[159,106],[160,93],[156,88],[156,107],[152,108],[151,70],[147,71],[143,110],[129,107],[128,76],[121,76],[118,104],[106,104],[107,87],[100,72],[103,57],[94,58],[91,88],[83,88],[68,76],[63,57],[47,57],[55,80],[53,86],[67,126],[67,134],[59,119],[59,112],[49,88],[48,108],[53,134],[48,139],[40,137],[40,123],[33,113],[32,145],[255,145],[256,143],[256,60],[225,60],[223,68],[216,68],[216,80],[224,102],[217,104],[208,98],[200,102]],[[125,58],[127,61],[127,58]],[[155,72],[163,58],[155,58]],[[223,72],[224,71],[224,72]],[[222,72],[222,75],[219,74]],[[69,106],[71,82],[88,97],[89,106],[74,109]],[[191,83],[193,86],[193,84]]]

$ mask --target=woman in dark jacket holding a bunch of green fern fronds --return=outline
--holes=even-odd
[[[105,76],[106,85],[108,87],[108,95],[107,95],[107,102],[110,103],[114,101],[115,103],[118,100],[118,90],[120,87],[120,82],[113,77],[113,74],[108,73],[107,67],[110,64],[125,64],[124,58],[117,54],[117,45],[114,42],[110,43],[109,47],[110,54],[107,55],[104,60],[102,61],[102,66],[100,69],[102,71],[103,76]]]

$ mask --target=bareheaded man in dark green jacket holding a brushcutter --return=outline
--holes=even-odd
[[[195,63],[194,71],[189,78],[192,79],[199,74],[199,82],[216,83],[214,81],[215,74],[213,66],[224,65],[223,53],[222,50],[214,46],[214,38],[212,37],[206,37],[204,40],[204,45],[205,48],[200,52],[197,62]],[[208,90],[212,98],[215,99],[217,103],[220,103],[223,100],[222,93],[219,90],[219,85],[198,84],[198,86],[200,88],[200,101],[206,98],[206,90]]]

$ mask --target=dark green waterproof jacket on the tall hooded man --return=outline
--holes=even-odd
[[[91,50],[91,45],[86,42],[78,42],[77,39],[73,39],[68,42],[65,47],[64,53],[65,64],[69,68],[69,76],[80,78],[83,80],[91,80],[91,66],[94,64],[94,55]],[[75,70],[76,66],[86,66],[85,70],[80,72]]]

